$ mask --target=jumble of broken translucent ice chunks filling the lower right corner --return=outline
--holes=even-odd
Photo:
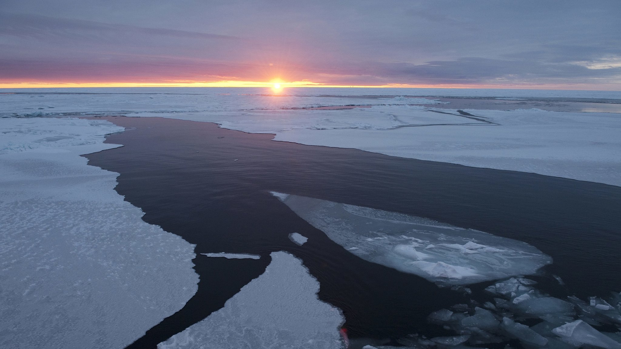
[[[527,278],[498,281],[486,288],[495,304],[488,301],[480,307],[476,301],[471,301],[471,306],[456,304],[453,306],[455,311],[440,309],[428,316],[431,324],[452,330],[454,336],[438,340],[412,334],[397,342],[418,349],[442,349],[446,345],[453,346],[453,343],[480,346],[517,339],[525,348],[576,349],[587,346],[621,349],[621,294],[614,294],[608,302],[597,297],[591,297],[589,302],[577,297],[564,301],[544,294],[535,288],[535,284]],[[520,323],[527,319],[540,322],[531,327]],[[589,323],[593,326],[606,324],[609,329],[610,326],[617,327],[620,332],[600,332]],[[469,337],[463,340],[464,336]]]

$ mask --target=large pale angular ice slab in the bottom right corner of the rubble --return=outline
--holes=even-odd
[[[612,340],[582,320],[556,327],[552,332],[576,347],[587,344],[605,349],[621,349],[621,343]]]

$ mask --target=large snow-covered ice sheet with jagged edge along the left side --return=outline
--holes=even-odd
[[[79,156],[122,130],[0,119],[0,347],[124,348],[196,292],[193,245],[143,222],[118,174]]]

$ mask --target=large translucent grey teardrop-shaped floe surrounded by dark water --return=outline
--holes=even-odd
[[[440,285],[532,274],[551,263],[537,248],[510,238],[405,214],[273,194],[354,255]]]

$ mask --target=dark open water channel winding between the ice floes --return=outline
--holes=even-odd
[[[195,243],[197,253],[261,255],[260,260],[197,255],[201,283],[196,296],[129,348],[155,348],[220,309],[263,273],[270,252],[278,250],[304,261],[321,284],[320,299],[343,310],[350,337],[453,334],[430,327],[425,317],[470,297],[361,260],[268,191],[428,217],[522,240],[554,258],[535,279],[555,296],[607,297],[621,291],[619,187],[272,142],[272,135],[210,123],[107,119],[127,131],[106,142],[124,147],[86,157],[91,165],[120,173],[116,190],[146,212],[146,222]],[[288,238],[291,232],[309,242],[295,245]],[[566,286],[555,283],[551,274],[561,276]],[[480,291],[488,284],[473,285],[472,298],[484,301],[487,296]]]

